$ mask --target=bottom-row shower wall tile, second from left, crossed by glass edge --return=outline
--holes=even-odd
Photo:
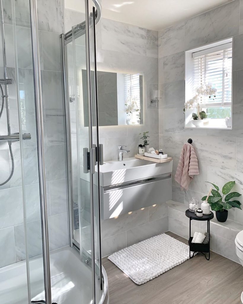
[[[27,250],[28,256],[36,257],[42,254],[42,233],[41,233],[41,221],[37,220],[34,222],[27,223]],[[14,226],[14,238],[15,238],[15,254],[16,261],[22,261],[26,258],[25,249],[25,233],[24,225]]]

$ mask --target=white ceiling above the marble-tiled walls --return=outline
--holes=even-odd
[[[65,0],[65,7],[84,12],[83,1]],[[102,0],[102,17],[160,30],[231,0]]]

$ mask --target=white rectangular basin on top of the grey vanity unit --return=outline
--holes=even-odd
[[[123,161],[106,161],[100,166],[100,186],[118,185],[129,181],[171,173],[173,162],[154,163],[135,157]]]

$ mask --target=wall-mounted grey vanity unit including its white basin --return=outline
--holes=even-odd
[[[134,157],[107,161],[100,167],[103,219],[109,219],[172,198],[172,164]]]

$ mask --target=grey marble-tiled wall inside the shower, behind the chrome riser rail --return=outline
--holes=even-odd
[[[4,1],[8,77],[14,79],[9,86],[10,119],[12,133],[19,132],[13,53],[12,8]],[[52,8],[56,7],[55,10]],[[27,247],[29,257],[42,253],[39,177],[36,148],[34,84],[29,2],[15,3],[16,36],[19,70],[19,90],[24,92],[22,132],[29,132],[31,140],[23,141],[22,180],[21,151],[19,142],[13,143],[15,171],[10,182],[0,188],[0,243],[1,267],[25,259],[23,228],[23,190],[25,192]],[[47,209],[49,216],[50,249],[68,245],[66,147],[62,94],[62,72],[59,34],[63,33],[62,0],[38,1],[39,43],[42,69],[42,98],[44,103],[44,140],[47,175]],[[2,47],[0,47],[2,52]],[[0,56],[1,57],[1,56]],[[2,59],[0,59],[2,65]],[[1,72],[2,73],[2,72]],[[0,133],[5,134],[5,111],[0,120]],[[11,159],[8,146],[0,144],[1,181],[8,177]]]

